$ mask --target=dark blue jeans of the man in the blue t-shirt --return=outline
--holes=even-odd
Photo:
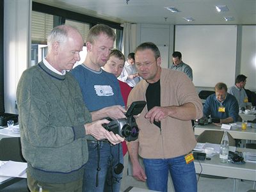
[[[118,145],[119,159],[118,161]],[[110,145],[110,143],[100,141],[100,159],[98,162],[97,143],[88,142],[89,159],[85,164],[83,191],[84,192],[119,192],[122,173],[116,175],[115,165],[124,163],[122,145]],[[99,172],[97,168],[99,163]],[[98,186],[96,182],[98,180]]]

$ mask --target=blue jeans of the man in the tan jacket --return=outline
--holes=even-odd
[[[184,156],[170,159],[143,159],[143,163],[149,189],[166,192],[168,172],[170,172],[176,192],[197,191],[194,162],[187,164]]]

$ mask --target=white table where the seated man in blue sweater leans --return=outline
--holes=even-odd
[[[227,130],[234,139],[239,140],[256,140],[256,124],[250,123],[251,126],[247,126],[246,130],[241,129],[241,122],[237,122],[236,125],[232,125],[230,130]],[[221,126],[214,124],[196,125],[195,135],[200,135],[205,130],[223,131]]]

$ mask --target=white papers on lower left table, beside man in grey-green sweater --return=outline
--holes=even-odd
[[[0,175],[8,177],[27,177],[28,164],[17,161],[0,161]]]

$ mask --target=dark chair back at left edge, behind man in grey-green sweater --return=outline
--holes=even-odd
[[[26,162],[22,156],[19,137],[0,140],[0,160]]]

